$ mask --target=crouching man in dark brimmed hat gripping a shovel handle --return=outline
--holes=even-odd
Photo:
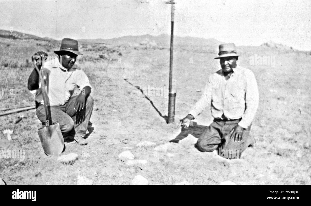
[[[63,136],[74,139],[78,144],[86,145],[84,138],[87,126],[93,110],[93,97],[91,85],[86,74],[75,65],[78,55],[82,55],[78,49],[78,41],[65,38],[60,49],[54,51],[57,58],[47,58],[43,51],[35,53],[41,57],[37,61],[41,69],[43,59],[43,76],[46,84],[46,92],[49,97],[52,123],[59,123]],[[33,56],[34,58],[34,56]],[[75,86],[80,89],[80,94],[72,96]],[[36,114],[45,124],[45,109],[41,90],[39,89],[39,75],[34,69],[28,78],[28,89],[36,90]]]

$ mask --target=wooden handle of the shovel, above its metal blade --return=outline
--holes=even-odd
[[[44,68],[44,65],[43,65],[44,61],[41,61],[41,63],[42,63],[41,70],[39,70],[38,65],[36,64],[35,58],[33,58],[32,63],[34,64],[35,69],[39,74],[39,80],[41,83],[41,93],[43,96],[43,102],[44,102],[44,108],[45,108],[45,117],[46,117],[45,124],[47,125],[47,123],[49,123],[48,125],[51,125],[52,124],[52,117],[51,117],[51,110],[50,110],[50,102],[49,102],[49,97],[45,92],[45,82],[44,82],[43,75],[42,75],[43,68]]]

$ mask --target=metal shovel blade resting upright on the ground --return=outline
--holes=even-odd
[[[47,155],[60,155],[64,149],[64,138],[58,123],[38,130],[44,152]]]

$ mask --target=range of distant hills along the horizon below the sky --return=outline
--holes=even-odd
[[[18,31],[8,31],[0,29],[0,38],[7,39],[20,39],[20,40],[38,40],[45,41],[49,49],[58,47],[60,41],[54,40],[49,37],[39,37],[36,35],[26,34]],[[170,35],[161,34],[158,36],[152,36],[149,34],[139,36],[123,36],[113,39],[80,39],[82,44],[111,44],[112,46],[125,46],[133,47],[134,49],[169,49]],[[214,52],[218,49],[219,44],[225,42],[218,41],[214,38],[204,39],[198,37],[180,37],[174,36],[174,46],[178,46],[180,49],[194,49],[197,52]],[[271,49],[278,49],[285,52],[298,52],[298,49],[294,49],[284,44],[267,41],[261,44],[260,47],[267,47]],[[175,47],[176,48],[176,47]],[[308,52],[306,52],[308,53]]]

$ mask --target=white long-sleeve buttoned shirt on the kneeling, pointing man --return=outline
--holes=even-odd
[[[209,77],[204,93],[189,114],[196,118],[211,105],[214,118],[242,118],[239,125],[246,129],[255,117],[258,102],[258,86],[253,72],[237,65],[228,80],[221,69]]]

